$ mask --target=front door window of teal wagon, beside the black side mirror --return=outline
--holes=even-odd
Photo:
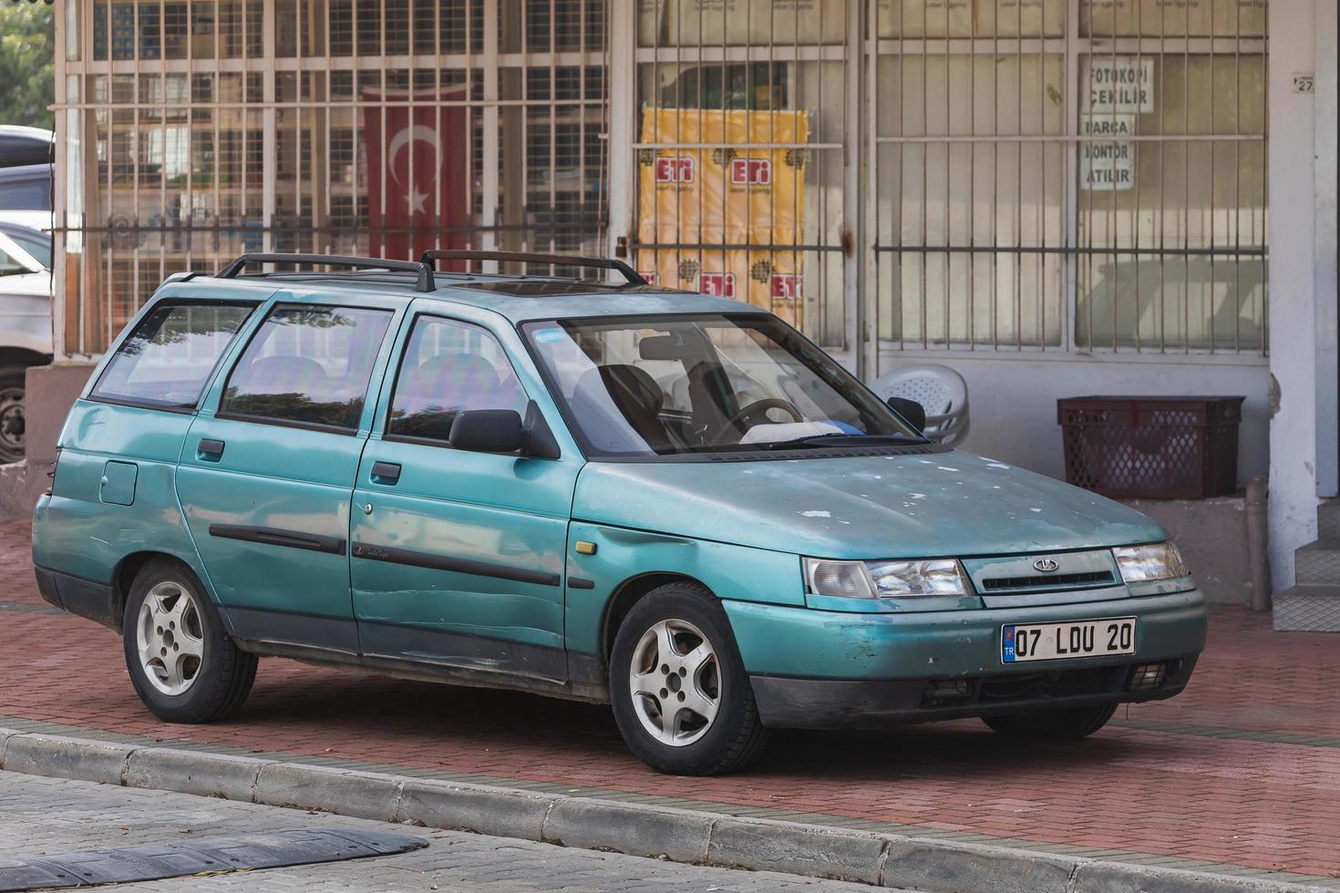
[[[497,339],[477,325],[433,316],[414,321],[386,432],[446,444],[457,414],[515,410],[528,399]]]

